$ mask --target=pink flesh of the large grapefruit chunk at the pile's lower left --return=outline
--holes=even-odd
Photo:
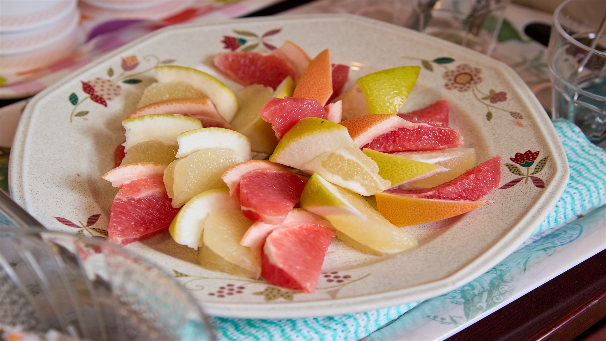
[[[131,181],[113,200],[107,241],[124,246],[150,237],[168,228],[177,212],[162,177]]]

